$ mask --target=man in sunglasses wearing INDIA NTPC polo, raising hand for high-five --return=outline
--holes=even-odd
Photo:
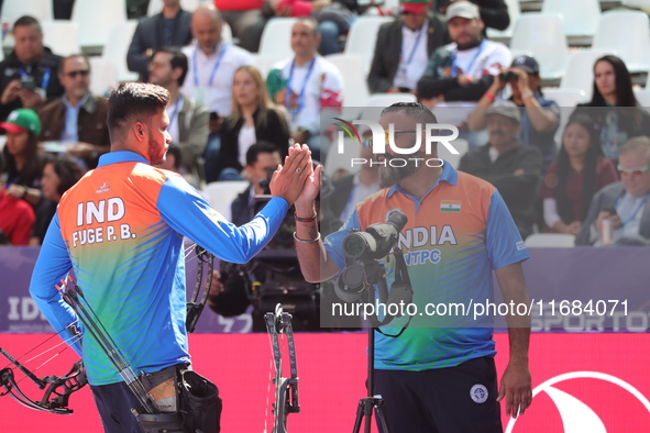
[[[437,123],[436,116],[419,103],[394,104],[379,119],[386,132],[394,129],[394,143],[400,148],[414,148],[417,124],[422,124],[420,143],[426,143],[427,123]],[[318,181],[308,180],[296,202],[300,268],[312,282],[339,275],[346,266],[345,236],[400,210],[408,222],[397,246],[404,251],[412,302],[422,314],[417,313],[397,337],[407,318],[394,321],[397,329],[390,323],[384,330],[393,337],[375,333],[375,387],[368,396],[383,397],[392,433],[503,432],[499,401],[505,398],[506,414],[516,418],[532,399],[530,319],[507,318],[510,359],[497,390],[492,318],[465,319],[451,310],[442,317],[428,315],[425,307],[472,300],[485,304],[493,299],[493,270],[506,302],[528,303],[520,264],[528,253],[496,188],[448,164],[425,164],[437,157],[434,148],[427,155],[421,146],[406,157],[406,164],[390,165],[395,154],[386,146],[387,154],[378,156],[379,162],[388,162],[379,166],[383,189],[359,203],[339,232],[323,243],[318,241],[316,224],[299,220],[315,209]],[[396,259],[382,262],[390,287]]]

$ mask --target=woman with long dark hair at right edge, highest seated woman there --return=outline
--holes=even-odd
[[[650,115],[638,108],[631,76],[616,56],[606,55],[596,60],[592,100],[577,107],[574,113],[584,112],[595,119],[603,154],[615,164],[623,143],[639,135],[650,136]]]

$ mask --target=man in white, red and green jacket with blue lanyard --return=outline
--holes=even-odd
[[[268,73],[271,98],[283,104],[291,118],[291,138],[307,143],[313,159],[327,156],[327,140],[320,140],[323,109],[339,110],[343,103],[343,79],[339,69],[318,55],[320,29],[312,18],[300,18],[291,29],[291,49],[296,56]]]

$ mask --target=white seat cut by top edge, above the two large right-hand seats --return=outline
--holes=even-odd
[[[542,13],[558,14],[566,37],[587,36],[585,45],[590,45],[601,19],[601,3],[598,0],[544,0]]]

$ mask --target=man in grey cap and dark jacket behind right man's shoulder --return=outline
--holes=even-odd
[[[486,119],[488,143],[463,155],[459,170],[496,187],[521,238],[526,238],[535,223],[541,157],[537,148],[524,146],[517,138],[521,116],[514,102],[495,102],[487,109]]]

